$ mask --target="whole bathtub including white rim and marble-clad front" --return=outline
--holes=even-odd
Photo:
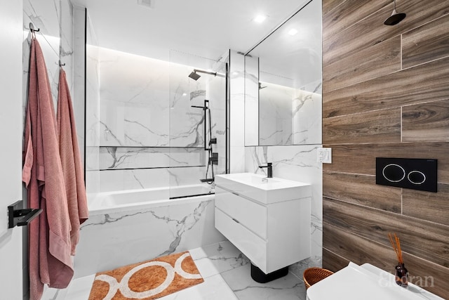
[[[224,241],[214,202],[210,185],[89,194],[74,277]]]

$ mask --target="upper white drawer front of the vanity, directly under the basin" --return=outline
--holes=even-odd
[[[267,207],[215,187],[215,207],[267,240]]]

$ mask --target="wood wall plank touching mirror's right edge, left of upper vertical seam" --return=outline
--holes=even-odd
[[[323,93],[401,70],[401,37],[323,65]]]

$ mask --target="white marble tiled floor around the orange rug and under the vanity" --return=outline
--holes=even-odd
[[[189,250],[204,282],[161,300],[305,300],[304,282],[293,273],[260,284],[251,279],[250,263],[229,242]],[[48,289],[42,299],[87,300],[95,274],[72,280],[67,289]]]

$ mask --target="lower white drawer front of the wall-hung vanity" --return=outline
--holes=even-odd
[[[215,207],[215,228],[261,270],[267,268],[267,243]]]

